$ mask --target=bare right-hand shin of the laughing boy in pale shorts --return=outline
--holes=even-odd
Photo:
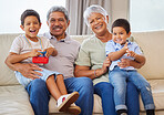
[[[66,87],[64,84],[64,77],[62,74],[57,75],[55,83],[57,83],[57,86],[62,95],[68,94],[68,91],[66,91]]]

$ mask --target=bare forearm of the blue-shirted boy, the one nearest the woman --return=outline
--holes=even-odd
[[[116,60],[119,60],[120,58],[122,58],[126,53],[126,50],[127,50],[127,43],[125,43],[124,48],[121,49],[120,51],[109,53],[107,58],[111,61],[116,61]]]

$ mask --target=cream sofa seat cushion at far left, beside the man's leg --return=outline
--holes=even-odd
[[[0,86],[0,115],[34,115],[23,86]]]

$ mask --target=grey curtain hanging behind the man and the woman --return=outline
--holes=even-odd
[[[68,29],[71,35],[92,34],[91,30],[86,27],[83,20],[84,10],[91,4],[102,6],[109,13],[110,19],[112,11],[111,0],[66,0],[66,9],[70,14],[70,25]],[[110,20],[111,23],[111,20]]]

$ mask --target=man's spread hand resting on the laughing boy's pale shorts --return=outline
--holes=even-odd
[[[24,76],[24,77],[29,77],[29,79],[40,79],[39,76],[42,76],[41,73],[35,72],[37,71],[42,71],[38,65],[35,64],[30,64],[30,63],[25,63],[25,64],[20,64],[18,66],[18,71]],[[39,76],[38,76],[39,75]]]

